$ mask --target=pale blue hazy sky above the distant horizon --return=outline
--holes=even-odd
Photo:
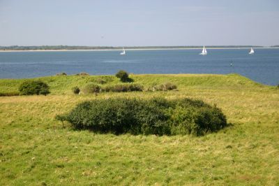
[[[279,45],[278,0],[0,0],[0,45]]]

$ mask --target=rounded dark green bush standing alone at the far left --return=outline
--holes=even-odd
[[[19,87],[20,95],[50,94],[50,87],[40,80],[27,80]]]

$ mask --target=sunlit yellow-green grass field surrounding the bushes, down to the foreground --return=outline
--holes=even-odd
[[[49,96],[0,97],[0,185],[278,185],[279,90],[238,75],[133,75],[177,92],[73,95],[100,76],[53,76]],[[22,80],[0,80],[15,92]],[[114,77],[109,84],[118,83]],[[193,97],[216,103],[233,125],[217,134],[114,136],[61,128],[54,120],[87,99]]]

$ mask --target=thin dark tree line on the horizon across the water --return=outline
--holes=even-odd
[[[206,45],[207,48],[263,48],[263,46],[257,45]],[[279,45],[273,45],[271,47],[279,47]],[[130,46],[126,49],[155,49],[155,48],[202,48],[199,45],[189,46]],[[117,50],[122,49],[122,46],[69,46],[69,45],[41,45],[41,46],[0,46],[0,50]]]

